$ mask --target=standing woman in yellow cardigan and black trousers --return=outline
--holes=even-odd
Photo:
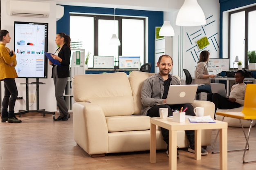
[[[9,43],[11,37],[7,30],[0,31],[0,80],[4,81],[4,98],[2,101],[2,122],[20,123],[14,114],[14,106],[18,96],[18,89],[15,79],[18,77],[15,66],[16,55],[5,45]],[[9,112],[7,112],[9,106]]]

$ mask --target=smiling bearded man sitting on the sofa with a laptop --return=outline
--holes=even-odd
[[[168,108],[168,116],[173,115],[172,110],[180,110],[181,107],[186,108],[186,115],[195,115],[193,112],[193,106],[191,104],[175,104],[167,105],[166,97],[170,85],[180,84],[180,80],[170,75],[171,69],[173,67],[173,59],[169,55],[162,55],[159,57],[157,62],[157,67],[159,67],[159,73],[151,77],[148,77],[141,88],[141,114],[148,115],[150,117],[159,117],[159,108]],[[157,105],[163,104],[163,105]],[[167,155],[169,149],[169,130],[161,128],[164,141],[167,144]],[[189,152],[195,153],[195,131],[186,130],[186,136],[189,140]],[[202,155],[207,155],[208,152],[201,149]],[[169,155],[168,155],[169,156]],[[177,152],[177,157],[179,153]]]

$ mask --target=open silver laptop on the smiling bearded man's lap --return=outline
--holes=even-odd
[[[195,100],[195,93],[197,89],[197,84],[170,85],[167,94],[166,104],[193,103]]]

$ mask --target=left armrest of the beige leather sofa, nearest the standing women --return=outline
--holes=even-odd
[[[89,155],[108,153],[108,127],[101,107],[89,102],[73,104],[74,140]]]

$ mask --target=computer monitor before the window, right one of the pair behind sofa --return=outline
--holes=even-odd
[[[140,68],[140,56],[119,56],[119,68]]]

